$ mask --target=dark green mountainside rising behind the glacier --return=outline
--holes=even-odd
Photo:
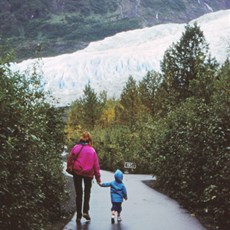
[[[228,0],[2,0],[0,34],[16,59],[82,49],[117,32],[168,22],[188,22],[230,8]]]

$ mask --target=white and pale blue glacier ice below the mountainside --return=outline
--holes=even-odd
[[[204,32],[212,56],[223,63],[230,47],[230,10],[206,14],[190,23],[195,21]],[[138,81],[150,70],[160,71],[165,50],[181,38],[184,30],[185,24],[162,24],[121,32],[92,42],[83,50],[43,58],[40,64],[45,88],[61,105],[79,98],[88,82],[97,93],[106,90],[108,96],[118,97],[130,75]],[[14,67],[24,71],[35,61],[29,59]]]

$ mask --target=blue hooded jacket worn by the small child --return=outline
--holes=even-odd
[[[116,170],[114,174],[115,180],[112,182],[102,183],[102,187],[110,187],[111,201],[123,202],[123,198],[127,199],[127,190],[123,184],[123,173]]]

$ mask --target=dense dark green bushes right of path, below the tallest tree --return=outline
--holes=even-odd
[[[229,225],[229,73],[226,62],[213,80],[208,104],[202,98],[187,99],[159,120],[153,133],[158,183],[220,229]]]

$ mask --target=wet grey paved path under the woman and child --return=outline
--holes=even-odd
[[[102,182],[113,180],[113,173],[101,171]],[[204,230],[205,228],[178,203],[149,188],[142,180],[150,180],[149,175],[124,174],[128,200],[122,205],[122,222],[111,224],[111,203],[109,188],[101,188],[93,183],[90,215],[91,221],[82,219],[77,225],[73,219],[63,230]]]

